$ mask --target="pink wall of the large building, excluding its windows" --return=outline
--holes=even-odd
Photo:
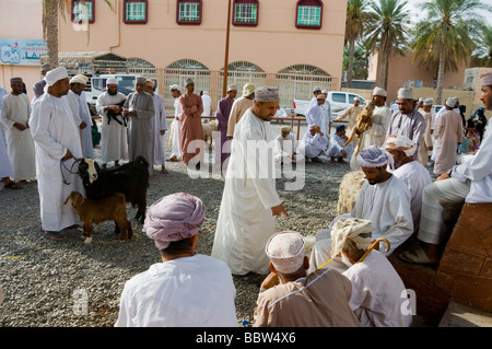
[[[147,24],[124,23],[122,0],[114,3],[112,11],[103,1],[95,2],[89,42],[86,32],[78,31],[69,18],[60,21],[60,53],[112,51],[144,59],[157,70],[177,60],[194,59],[211,71],[211,79],[219,79],[218,72],[224,66],[227,1],[203,1],[200,25],[176,23],[176,0],[149,1]],[[312,65],[331,75],[331,90],[340,90],[347,0],[324,1],[320,30],[295,26],[296,3],[260,0],[257,26],[231,24],[229,62],[255,63],[271,83],[276,73],[286,67]],[[166,83],[160,81],[160,85]]]

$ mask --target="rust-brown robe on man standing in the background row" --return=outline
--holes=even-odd
[[[179,97],[183,114],[179,123],[179,146],[181,149],[181,162],[198,163],[203,161],[203,144],[194,144],[194,140],[203,140],[203,127],[201,126],[201,113],[203,103],[196,93],[183,94]],[[189,146],[189,149],[188,149]]]

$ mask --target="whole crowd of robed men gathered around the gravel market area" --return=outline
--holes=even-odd
[[[60,232],[77,223],[77,213],[62,201],[72,190],[84,193],[69,168],[77,159],[93,156],[92,143],[84,138],[92,120],[83,95],[85,77],[69,78],[58,67],[47,71],[44,82],[44,93],[30,103],[20,92],[22,79],[11,80],[1,116],[8,142],[7,150],[0,148],[0,176],[7,178],[5,188],[14,189],[20,186],[11,177],[35,174],[44,234],[62,240]],[[186,80],[184,94],[180,86],[169,86],[176,103],[167,160],[163,98],[153,92],[153,82],[138,78],[136,92],[128,96],[117,84],[108,79],[107,91],[97,100],[104,165],[144,155],[163,173],[165,161],[199,168],[203,144],[194,142],[203,140],[201,117],[210,112],[195,93],[194,80]],[[481,101],[492,110],[492,73],[481,78]],[[176,193],[154,202],[143,232],[154,241],[162,261],[126,283],[115,326],[237,326],[233,277],[259,286],[255,326],[410,326],[406,289],[387,256],[417,236],[399,257],[436,265],[453,228],[449,213],[459,213],[464,202],[491,202],[490,131],[473,128],[482,132],[480,147],[473,150],[470,141],[457,164],[458,144],[469,127],[455,110],[456,100],[448,98],[433,118],[430,98],[419,105],[411,90],[400,89],[398,110],[391,113],[387,92],[375,88],[374,109],[365,120],[371,123],[348,142],[344,127],[328,135],[330,106],[326,94],[315,91],[307,131],[296,149],[290,128],[272,139],[278,88],[247,84],[241,97],[236,94],[235,85],[227,86],[216,107],[215,159],[226,175],[211,256],[196,254],[206,217],[200,198]],[[356,102],[340,117],[349,116],[351,136],[367,107]],[[17,135],[22,132],[25,137]],[[312,249],[298,232],[276,233],[277,218],[290,216],[274,176],[262,171],[272,159],[251,155],[251,143],[263,142],[273,144],[273,159],[283,164],[319,162],[319,156],[330,162],[350,159],[351,170],[364,174],[354,209],[318,231]],[[253,151],[257,154],[258,149]],[[436,182],[424,167],[430,158],[440,175]]]

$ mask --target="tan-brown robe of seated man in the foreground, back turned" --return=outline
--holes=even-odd
[[[255,327],[360,327],[349,306],[352,284],[332,269],[318,269],[305,278],[261,292]]]

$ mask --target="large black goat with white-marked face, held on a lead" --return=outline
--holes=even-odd
[[[149,188],[149,162],[143,156],[113,168],[101,168],[95,161],[79,159],[79,175],[85,187],[87,199],[99,200],[115,193],[125,195],[131,207],[138,207],[136,219],[143,223]],[[91,162],[95,168],[91,168]],[[94,170],[97,176],[94,176]],[[90,175],[90,173],[92,175]]]

